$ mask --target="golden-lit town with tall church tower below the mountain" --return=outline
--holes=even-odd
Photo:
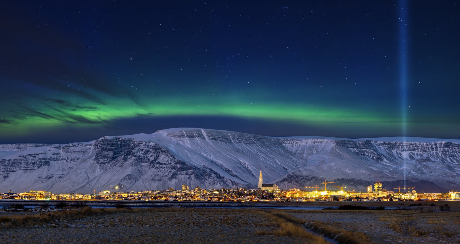
[[[392,187],[389,191],[381,182],[367,187],[366,192],[347,191],[346,186],[334,186],[326,180],[321,186],[305,186],[304,189],[280,190],[276,184],[263,184],[262,172],[258,189],[182,189],[152,190],[143,192],[119,192],[123,186],[112,187],[115,191],[104,190],[91,194],[52,193],[32,190],[26,193],[0,193],[1,199],[17,200],[145,200],[145,201],[221,201],[221,202],[257,202],[257,201],[437,201],[460,200],[460,191],[448,193],[417,193],[415,187]]]

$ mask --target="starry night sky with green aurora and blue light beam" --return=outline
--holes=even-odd
[[[146,2],[0,2],[0,143],[460,138],[457,1]]]

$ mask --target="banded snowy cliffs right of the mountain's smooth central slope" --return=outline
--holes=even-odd
[[[378,138],[377,138],[378,139]],[[364,190],[375,181],[388,190],[404,185],[425,191],[460,188],[460,144],[455,142],[385,142],[378,140],[284,140],[284,145],[307,160],[308,167],[278,181],[286,187],[296,178],[316,184],[316,177]]]

